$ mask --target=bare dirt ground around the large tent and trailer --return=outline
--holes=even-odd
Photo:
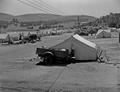
[[[36,47],[50,47],[69,36],[44,37],[35,44],[0,46],[0,92],[119,92],[118,64],[36,66],[36,61],[29,61],[37,57]],[[89,40],[106,50],[110,63],[119,63],[118,38]]]

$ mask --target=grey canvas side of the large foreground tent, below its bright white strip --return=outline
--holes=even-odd
[[[97,50],[95,48],[89,47],[88,45],[79,42],[76,39],[72,39],[72,44],[75,51],[76,60],[96,60]]]

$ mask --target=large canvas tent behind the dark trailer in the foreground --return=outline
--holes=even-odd
[[[65,41],[51,47],[53,49],[68,49],[69,52],[74,51],[76,60],[96,60],[97,46],[96,44],[84,39],[78,34],[71,36]]]

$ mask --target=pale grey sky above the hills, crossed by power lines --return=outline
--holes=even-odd
[[[104,16],[111,12],[120,13],[120,0],[42,0],[44,3],[41,0],[20,1],[0,0],[0,12],[12,15],[55,13],[60,15],[90,15],[95,17]]]

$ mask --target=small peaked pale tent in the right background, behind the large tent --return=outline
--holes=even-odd
[[[100,29],[96,34],[96,38],[111,38],[111,31]]]

